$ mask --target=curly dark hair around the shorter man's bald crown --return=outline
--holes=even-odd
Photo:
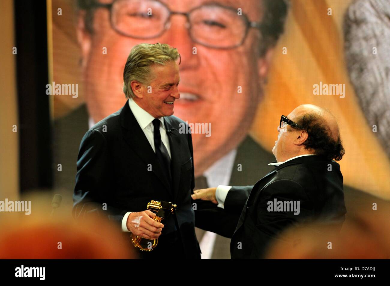
[[[314,150],[316,155],[325,156],[327,160],[339,161],[345,154],[340,136],[335,141],[330,136],[330,129],[323,123],[319,114],[305,114],[296,123],[302,126],[308,133],[308,138],[303,143],[305,149]],[[289,130],[300,130],[293,126],[289,126]]]

